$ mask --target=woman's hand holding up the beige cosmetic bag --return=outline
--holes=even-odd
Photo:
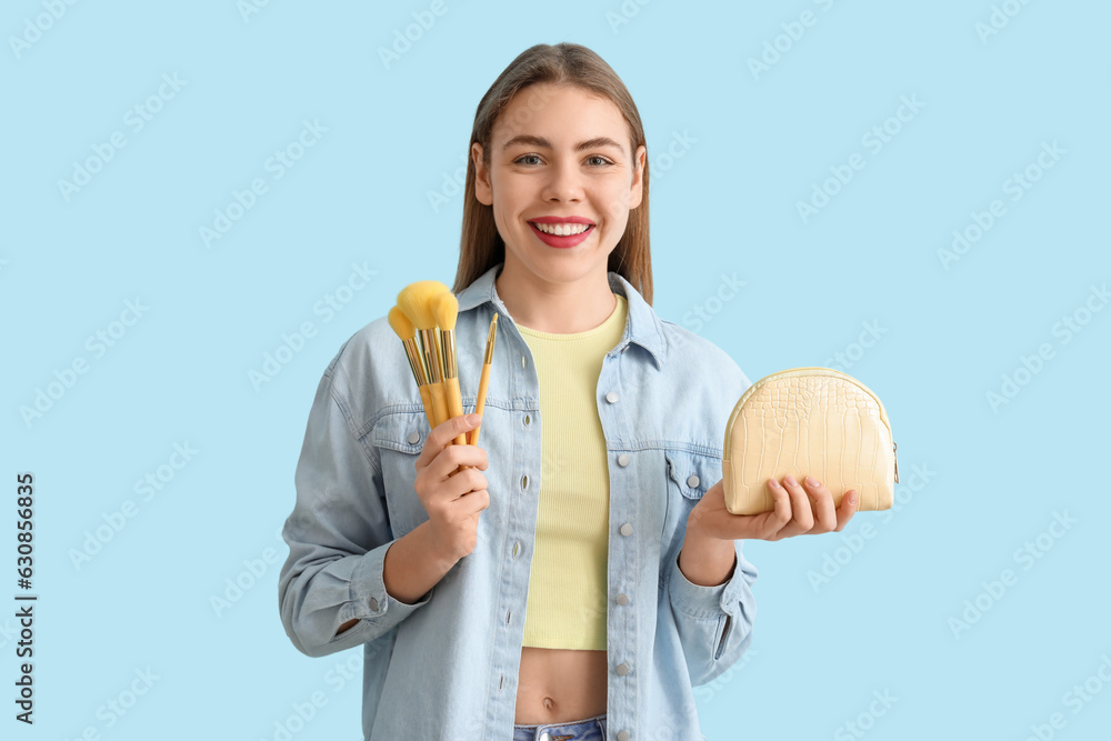
[[[775,509],[759,514],[733,514],[725,509],[725,488],[722,481],[710,487],[690,513],[687,530],[717,540],[781,540],[792,535],[817,535],[840,532],[857,511],[858,492],[850,489],[834,509],[833,494],[825,484],[811,485],[803,477],[797,482],[788,475],[780,483],[768,480],[768,490],[775,501]]]

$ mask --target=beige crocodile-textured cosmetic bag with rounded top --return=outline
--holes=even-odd
[[[768,479],[812,475],[833,494],[850,489],[858,511],[891,508],[899,481],[895,443],[883,404],[868,387],[832,368],[790,368],[760,379],[725,423],[721,478],[725,508],[757,514],[774,508]]]

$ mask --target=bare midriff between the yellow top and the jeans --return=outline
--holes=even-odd
[[[518,725],[567,723],[605,713],[605,651],[521,649]]]

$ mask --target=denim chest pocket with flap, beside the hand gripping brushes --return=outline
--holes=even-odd
[[[394,538],[401,538],[428,512],[417,495],[417,458],[424,449],[428,420],[423,411],[391,412],[382,417],[370,435],[382,463],[382,487]]]

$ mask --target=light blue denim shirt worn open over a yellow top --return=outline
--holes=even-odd
[[[293,645],[323,657],[361,645],[367,741],[511,741],[541,488],[540,387],[532,354],[498,297],[491,268],[458,294],[456,347],[464,411],[473,411],[486,338],[498,339],[479,447],[490,505],[474,551],[424,599],[382,582],[387,549],[428,520],[414,461],[429,432],[404,349],[382,317],[324,370],[297,464],[282,537],[281,620]],[[703,741],[692,687],[732,665],[752,640],[755,568],[717,587],[690,582],[678,555],[687,517],[721,479],[725,421],[750,385],[737,363],[659,319],[621,276],[620,342],[594,401],[609,459],[605,614],[610,739]],[[594,600],[567,594],[569,610]],[[348,620],[358,623],[337,637]],[[578,719],[569,719],[578,720]]]

